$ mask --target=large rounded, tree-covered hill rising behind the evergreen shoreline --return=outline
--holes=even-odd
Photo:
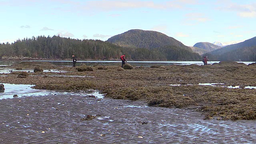
[[[151,30],[129,30],[122,34],[112,36],[107,41],[123,47],[153,49],[161,46],[177,46],[190,50],[188,46],[185,46],[178,40]]]

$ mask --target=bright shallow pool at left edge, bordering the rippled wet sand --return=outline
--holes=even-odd
[[[14,98],[13,96],[16,94],[18,98],[24,96],[47,96],[47,95],[72,95],[72,96],[89,96],[94,95],[95,98],[104,98],[104,94],[100,94],[97,90],[90,91],[79,91],[79,92],[56,92],[53,90],[37,90],[31,88],[34,85],[30,84],[4,84],[4,92],[0,92],[0,100],[6,98]]]

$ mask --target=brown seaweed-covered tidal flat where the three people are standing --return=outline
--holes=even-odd
[[[28,76],[22,78],[18,77],[19,72],[0,74],[0,82],[32,84],[35,89],[45,90],[100,90],[108,98],[200,111],[204,119],[256,119],[255,63],[134,66],[131,70],[118,70],[120,66],[116,65],[104,68],[95,65],[90,66],[90,71],[78,72],[78,67],[20,62],[6,68],[28,71],[36,66],[43,68],[44,72],[28,72]]]

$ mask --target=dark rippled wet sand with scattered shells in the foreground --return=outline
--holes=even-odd
[[[57,94],[3,99],[0,111],[2,144],[256,143],[255,120],[203,120],[143,101]]]

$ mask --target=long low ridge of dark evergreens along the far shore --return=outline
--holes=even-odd
[[[9,44],[0,44],[0,58],[31,57],[66,59],[76,55],[79,59],[119,59],[126,54],[127,60],[200,60],[201,57],[185,48],[163,46],[159,48],[121,47],[101,40],[78,40],[59,36],[24,38]]]

